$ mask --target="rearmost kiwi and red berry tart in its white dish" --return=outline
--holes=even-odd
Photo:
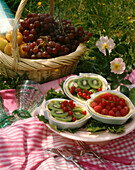
[[[63,85],[66,95],[74,101],[85,104],[91,95],[107,90],[106,79],[98,74],[85,74],[67,78]]]

